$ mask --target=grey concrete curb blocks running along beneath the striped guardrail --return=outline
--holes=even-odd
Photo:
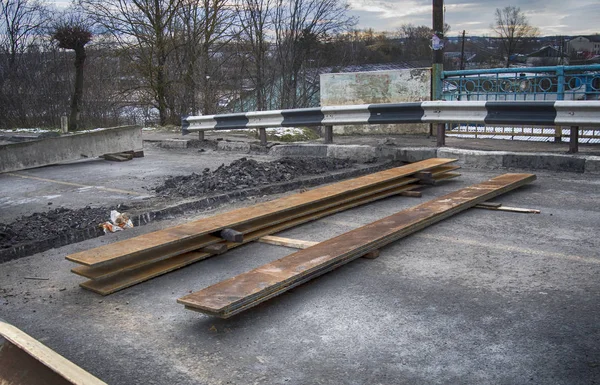
[[[255,139],[240,131],[208,131],[207,139],[219,139],[220,151],[252,152]],[[160,142],[177,133],[147,132],[147,140]],[[224,139],[224,140],[223,140]],[[523,168],[600,174],[600,145],[581,145],[579,154],[566,154],[568,143],[523,142],[493,139],[446,138],[437,148],[436,139],[425,135],[335,136],[335,144],[278,143],[268,149],[271,156],[329,156],[370,162],[396,159],[414,162],[435,156],[453,157],[467,167],[483,169]]]

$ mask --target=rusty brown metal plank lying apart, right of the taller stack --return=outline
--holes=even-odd
[[[505,174],[460,189],[186,295],[177,302],[190,310],[230,317],[535,178],[534,174]]]

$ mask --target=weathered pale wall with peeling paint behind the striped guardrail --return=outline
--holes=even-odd
[[[430,100],[431,69],[321,75],[321,106],[406,103]],[[428,124],[334,126],[337,134],[426,134]]]

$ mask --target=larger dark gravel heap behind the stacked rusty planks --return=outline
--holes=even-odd
[[[215,171],[207,168],[202,174],[169,178],[156,187],[155,191],[165,196],[193,197],[286,182],[303,176],[347,169],[353,165],[354,162],[349,160],[331,158],[281,158],[271,162],[241,158],[228,166],[221,165]]]

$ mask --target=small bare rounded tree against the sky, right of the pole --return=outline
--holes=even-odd
[[[529,24],[527,16],[519,7],[496,8],[495,18],[496,22],[492,25],[492,29],[500,37],[501,47],[506,55],[506,68],[508,68],[510,57],[519,52],[526,38],[537,36],[539,30]]]

